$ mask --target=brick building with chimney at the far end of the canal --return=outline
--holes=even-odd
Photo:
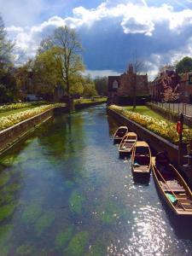
[[[121,104],[125,97],[148,96],[148,75],[137,75],[130,64],[126,73],[108,77],[108,104]]]

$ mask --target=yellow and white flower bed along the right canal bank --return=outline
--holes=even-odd
[[[142,125],[143,127],[147,128],[149,131],[153,131],[160,137],[164,137],[172,143],[178,143],[176,124],[173,124],[169,121],[154,119],[148,115],[131,112],[116,105],[111,105],[108,108],[116,111],[117,113],[121,113],[126,118],[135,121],[139,125]]]

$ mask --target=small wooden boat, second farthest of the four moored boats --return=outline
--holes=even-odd
[[[127,132],[119,145],[119,156],[130,154],[136,142],[137,134],[135,132]]]

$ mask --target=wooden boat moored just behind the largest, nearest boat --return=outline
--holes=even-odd
[[[149,174],[151,169],[151,150],[146,142],[135,143],[132,149],[131,164],[133,174]]]

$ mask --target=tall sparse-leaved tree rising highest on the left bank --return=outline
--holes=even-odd
[[[76,94],[77,90],[81,88],[79,83],[73,83],[80,72],[84,71],[84,64],[81,55],[79,55],[81,49],[75,30],[67,26],[56,28],[52,36],[44,39],[41,49],[39,49],[40,55],[51,50],[53,60],[51,68],[58,73],[56,78],[61,81],[67,96]]]

